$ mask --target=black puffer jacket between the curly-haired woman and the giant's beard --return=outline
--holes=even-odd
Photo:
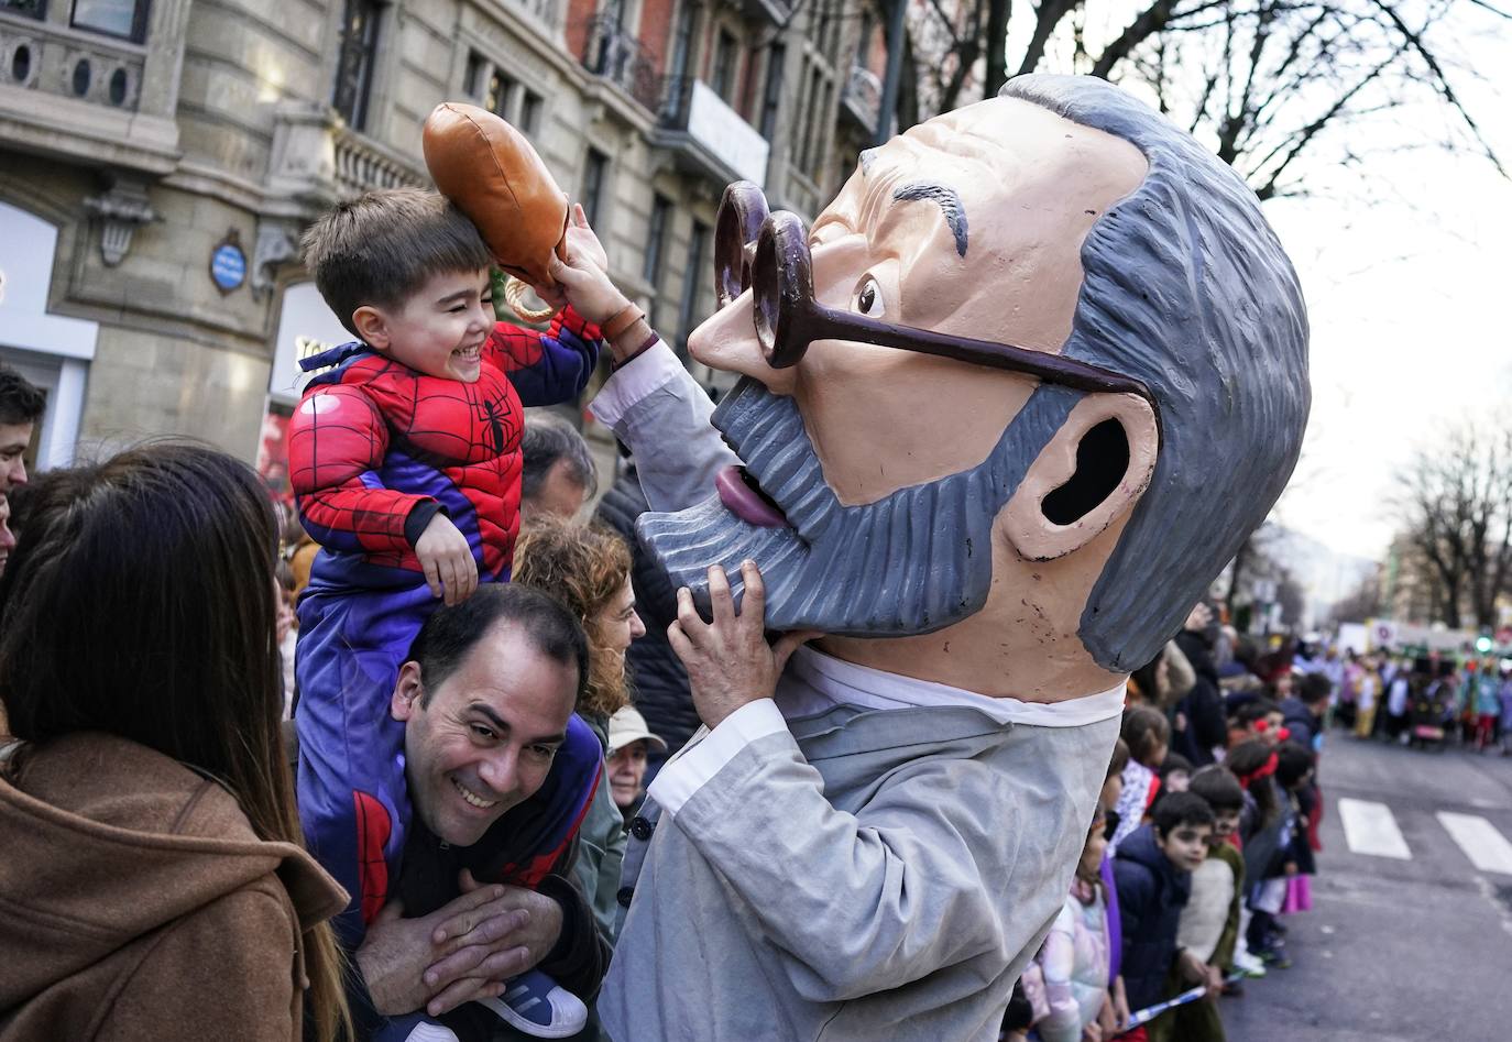
[[[605,493],[597,517],[631,544],[631,587],[646,635],[631,644],[624,661],[634,681],[635,708],[667,743],[670,756],[688,743],[700,721],[688,691],[688,671],[667,643],[667,628],[677,619],[677,591],[656,558],[635,538],[635,519],[647,510],[640,478],[631,469]]]

